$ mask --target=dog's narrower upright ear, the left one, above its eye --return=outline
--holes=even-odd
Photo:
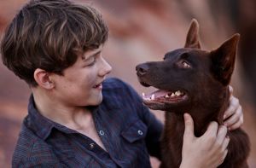
[[[201,49],[201,44],[199,41],[199,24],[195,19],[193,19],[190,23],[184,48]]]

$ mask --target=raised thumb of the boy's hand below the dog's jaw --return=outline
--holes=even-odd
[[[194,122],[192,117],[189,113],[184,113],[184,123],[185,123],[185,130],[183,135],[183,141],[186,141],[188,138],[194,138]]]

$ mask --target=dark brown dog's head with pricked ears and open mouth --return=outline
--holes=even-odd
[[[185,113],[197,105],[218,106],[227,96],[235,67],[240,35],[222,43],[218,49],[201,49],[199,25],[192,20],[184,48],[166,53],[163,61],[151,61],[136,67],[143,86],[158,90],[143,95],[143,103],[152,109]]]

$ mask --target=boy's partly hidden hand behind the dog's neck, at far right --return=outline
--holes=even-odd
[[[233,88],[230,86],[230,106],[224,113],[224,125],[229,130],[236,130],[243,124],[243,113],[239,100],[232,93]]]

